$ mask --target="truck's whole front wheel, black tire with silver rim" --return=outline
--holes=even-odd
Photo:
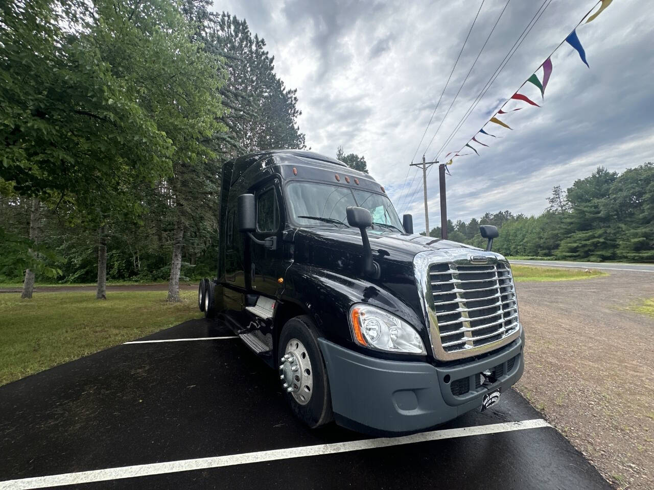
[[[332,420],[332,397],[317,329],[308,316],[286,322],[279,337],[279,378],[294,414],[312,429]]]

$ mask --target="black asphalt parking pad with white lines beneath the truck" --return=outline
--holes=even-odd
[[[0,489],[610,488],[513,390],[413,436],[307,429],[232,336],[192,320],[0,387]]]

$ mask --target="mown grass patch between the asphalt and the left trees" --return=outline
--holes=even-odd
[[[167,303],[165,291],[47,293],[33,299],[0,295],[0,385],[84,355],[199,318],[197,295],[181,291]]]

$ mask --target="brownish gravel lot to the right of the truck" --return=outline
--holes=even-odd
[[[517,389],[615,487],[654,488],[654,274],[517,282],[526,332]]]

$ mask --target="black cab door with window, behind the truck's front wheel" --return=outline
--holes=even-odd
[[[272,180],[261,186],[254,193],[256,199],[256,231],[258,240],[277,237],[275,250],[265,245],[250,241],[250,278],[252,292],[267,297],[276,297],[281,293],[281,284],[277,280],[283,277],[283,201],[279,181]]]

